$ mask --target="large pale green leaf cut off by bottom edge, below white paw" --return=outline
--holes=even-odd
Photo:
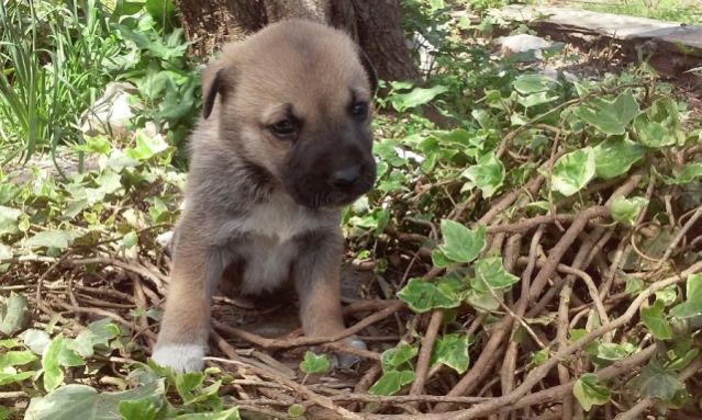
[[[45,397],[32,398],[25,418],[32,420],[119,419],[121,401],[165,394],[164,379],[121,393],[102,393],[87,385],[63,386]]]

